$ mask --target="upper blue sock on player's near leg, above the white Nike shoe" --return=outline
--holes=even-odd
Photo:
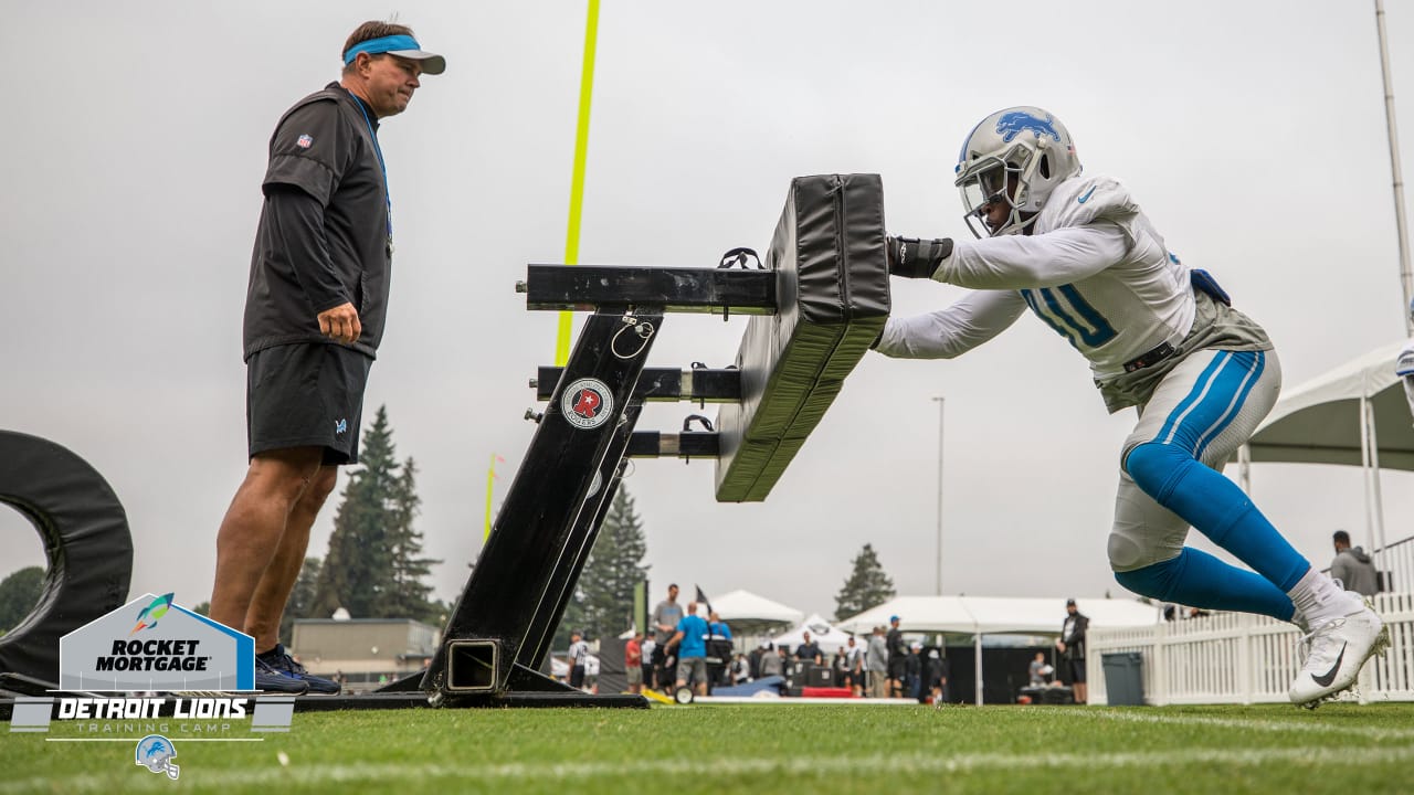
[[[1282,596],[1311,569],[1237,484],[1205,467],[1188,450],[1148,441],[1130,451],[1124,467],[1145,494],[1251,566]]]

